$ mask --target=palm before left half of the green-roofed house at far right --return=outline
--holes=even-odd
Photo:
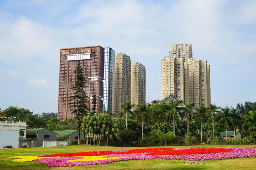
[[[220,114],[217,117],[217,120],[220,122],[220,124],[223,124],[226,129],[226,140],[228,140],[228,126],[232,123],[231,117],[230,117],[230,108],[229,107],[220,107]]]

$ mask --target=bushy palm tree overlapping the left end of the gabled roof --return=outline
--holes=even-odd
[[[167,104],[164,102],[156,103],[150,108],[152,122],[157,123],[157,131],[159,131],[159,125],[161,120],[164,119],[164,113],[167,110]]]

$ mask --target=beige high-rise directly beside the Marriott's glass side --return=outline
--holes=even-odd
[[[122,111],[121,104],[131,101],[131,63],[130,56],[119,52],[115,54],[112,105],[115,117]]]

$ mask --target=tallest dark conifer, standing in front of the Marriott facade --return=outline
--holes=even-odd
[[[70,89],[74,90],[72,95],[70,96],[70,102],[74,107],[73,113],[75,113],[75,118],[77,119],[77,130],[78,130],[78,144],[80,144],[80,128],[82,119],[87,115],[88,107],[87,107],[87,98],[83,91],[83,87],[85,87],[86,78],[84,77],[84,71],[80,66],[80,63],[77,64],[76,70],[74,70],[76,75],[75,86],[72,86]]]

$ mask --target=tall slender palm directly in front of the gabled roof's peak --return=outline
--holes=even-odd
[[[179,104],[181,103],[181,100],[176,100],[173,102],[173,100],[170,100],[168,107],[169,107],[169,112],[168,112],[168,117],[171,119],[173,118],[173,135],[176,136],[175,134],[175,118],[179,117],[179,112],[180,112],[180,107]]]

